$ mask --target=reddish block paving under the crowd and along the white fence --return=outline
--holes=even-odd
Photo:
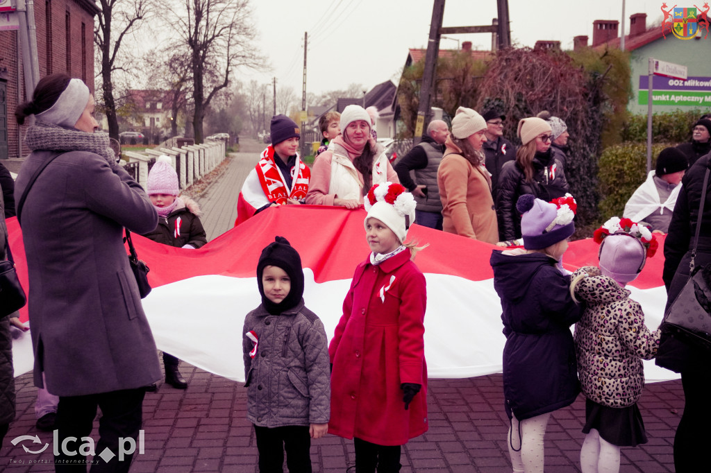
[[[232,227],[235,217],[227,211],[230,205],[223,201],[233,198],[231,207],[235,208],[240,177],[246,176],[245,169],[256,161],[256,153],[239,153],[223,176],[198,197],[205,212],[203,221],[209,222],[214,232]],[[223,205],[222,212],[213,212],[217,201]],[[156,393],[146,393],[144,448],[135,457],[131,472],[256,473],[257,447],[252,426],[246,419],[245,388],[185,362],[181,363],[181,373],[189,383],[185,391],[159,384]],[[0,469],[53,471],[52,433],[35,428],[36,389],[31,373],[16,379],[16,392],[17,417],[0,450]],[[402,449],[403,473],[511,471],[501,374],[430,379],[427,396],[429,431]],[[622,448],[620,471],[673,472],[673,435],[683,412],[680,381],[648,384],[639,406],[649,442],[636,448]],[[572,406],[553,413],[545,437],[546,472],[580,472],[584,417],[583,396]],[[92,433],[95,438],[97,428],[95,422]],[[24,440],[12,445],[11,440],[20,435],[36,435],[38,441]],[[41,450],[44,445],[50,446],[40,454],[27,452]],[[333,435],[314,440],[311,460],[314,472],[346,472],[354,461],[353,442]]]

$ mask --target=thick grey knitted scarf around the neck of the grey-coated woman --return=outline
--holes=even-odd
[[[109,164],[116,163],[116,153],[109,148],[109,135],[104,133],[87,133],[36,120],[27,129],[25,143],[32,151],[89,151]]]

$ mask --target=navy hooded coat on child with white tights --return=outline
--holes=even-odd
[[[570,326],[582,315],[570,276],[542,253],[491,254],[493,287],[501,298],[503,394],[506,413],[525,420],[570,406],[580,392]]]

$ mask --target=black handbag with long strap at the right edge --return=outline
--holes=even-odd
[[[701,192],[699,217],[696,221],[694,246],[689,262],[689,280],[664,313],[659,326],[662,332],[674,335],[690,345],[711,352],[711,264],[695,266],[696,248],[699,242],[701,216],[706,200],[706,186],[710,169],[706,168],[704,186]]]

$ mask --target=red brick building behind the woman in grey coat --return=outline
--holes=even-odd
[[[64,72],[94,87],[95,0],[35,0],[35,25],[40,77]],[[14,111],[28,99],[17,31],[0,31],[0,159],[21,158],[23,129]]]

